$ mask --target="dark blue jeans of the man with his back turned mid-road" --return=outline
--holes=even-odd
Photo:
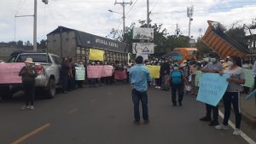
[[[136,121],[140,120],[140,111],[139,111],[139,105],[140,101],[142,101],[143,105],[143,119],[148,120],[148,94],[147,91],[140,92],[137,91],[137,89],[132,89],[131,92],[132,95],[132,101],[133,101],[133,109],[134,109],[134,118]]]

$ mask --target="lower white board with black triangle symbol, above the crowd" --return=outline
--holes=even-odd
[[[132,54],[154,54],[154,43],[132,43]]]

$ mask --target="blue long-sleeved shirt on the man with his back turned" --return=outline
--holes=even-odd
[[[148,82],[151,82],[148,69],[143,64],[137,64],[131,67],[129,73],[131,86],[137,91],[144,92],[148,90]]]

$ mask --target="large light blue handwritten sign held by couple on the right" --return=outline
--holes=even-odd
[[[230,78],[230,76],[220,76],[218,73],[204,73],[201,77],[196,100],[217,106],[228,87],[227,78]]]

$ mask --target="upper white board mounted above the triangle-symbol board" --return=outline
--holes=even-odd
[[[134,27],[132,32],[132,39],[154,39],[154,29],[145,27]]]

